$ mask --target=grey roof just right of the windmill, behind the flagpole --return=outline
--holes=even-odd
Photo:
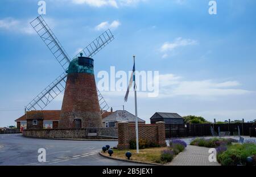
[[[136,121],[136,116],[134,116],[132,113],[128,112],[128,111],[123,111],[123,110],[117,110],[115,112],[113,112],[112,114],[110,114],[109,116],[106,116],[103,119],[104,122],[106,121],[117,121],[117,122],[121,122],[121,121],[127,121],[127,122],[135,122]],[[139,119],[138,117],[138,122],[139,123],[144,123],[145,121],[142,119]]]

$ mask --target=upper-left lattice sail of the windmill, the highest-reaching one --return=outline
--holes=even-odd
[[[67,70],[71,60],[60,44],[60,41],[53,34],[51,28],[49,28],[46,21],[44,21],[43,17],[41,15],[38,16],[36,19],[30,22],[30,24],[41,37],[44,44],[47,45],[48,49],[52,52],[53,56],[59,62],[61,67],[64,70]]]

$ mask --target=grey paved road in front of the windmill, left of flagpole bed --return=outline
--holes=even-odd
[[[44,140],[21,134],[0,134],[0,165],[137,165],[98,155],[102,146],[117,141]],[[46,149],[45,163],[38,162],[38,149]]]

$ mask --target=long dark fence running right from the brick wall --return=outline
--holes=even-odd
[[[210,127],[214,132],[230,132],[236,136],[240,132],[243,136],[249,136],[250,128],[256,128],[256,123],[232,123],[232,124],[166,124],[166,138],[212,136]],[[239,128],[238,128],[239,127]]]

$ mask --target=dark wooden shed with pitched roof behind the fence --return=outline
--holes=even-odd
[[[177,113],[172,112],[156,112],[150,118],[150,123],[155,124],[158,121],[164,121],[166,124],[184,124],[184,118]]]

